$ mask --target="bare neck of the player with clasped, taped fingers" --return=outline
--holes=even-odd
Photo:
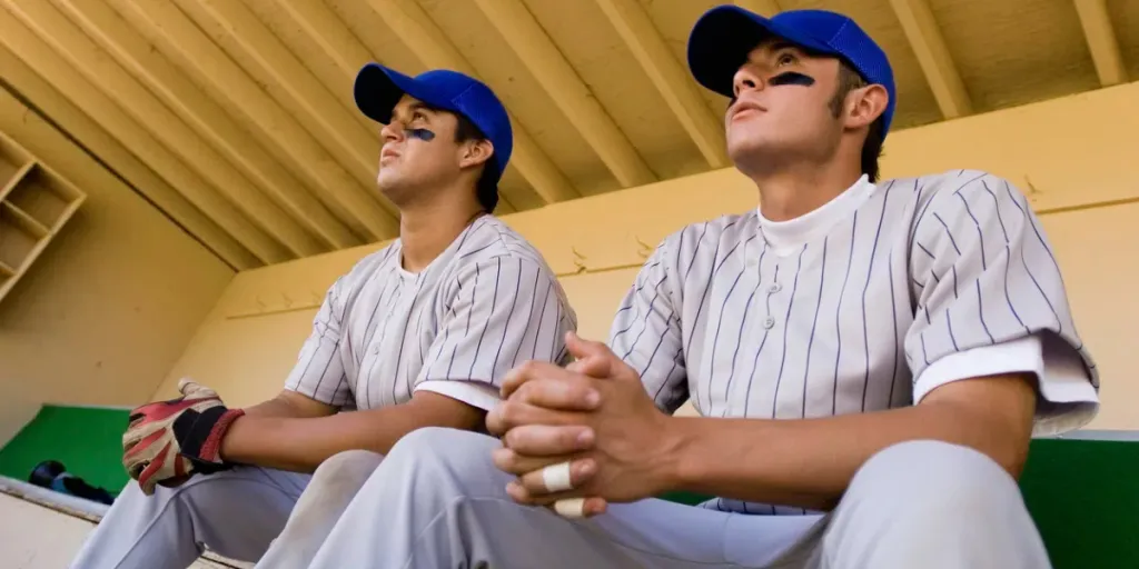
[[[784,164],[751,175],[760,189],[760,213],[769,221],[806,215],[846,191],[862,176],[857,162]]]

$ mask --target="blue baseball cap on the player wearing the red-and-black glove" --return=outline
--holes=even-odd
[[[514,131],[506,107],[478,80],[449,69],[434,69],[411,77],[379,64],[364,65],[352,88],[357,108],[382,124],[392,122],[392,110],[409,94],[427,105],[467,117],[494,146],[494,181],[502,178],[514,149]]]

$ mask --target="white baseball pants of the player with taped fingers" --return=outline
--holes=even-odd
[[[403,437],[309,567],[1050,567],[1016,483],[961,446],[886,448],[827,516],[746,516],[646,500],[566,520],[510,501],[510,476],[491,462],[499,445],[442,428]]]

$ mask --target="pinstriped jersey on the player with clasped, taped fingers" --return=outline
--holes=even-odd
[[[690,398],[716,418],[860,413],[1024,371],[1040,377],[1036,434],[1098,410],[1098,373],[1040,223],[984,172],[863,176],[792,221],[753,211],[689,225],[647,261],[609,343],[669,412]]]

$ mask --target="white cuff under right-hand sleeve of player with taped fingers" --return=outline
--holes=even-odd
[[[1023,372],[1039,378],[1033,436],[1077,429],[1099,411],[1099,394],[1080,354],[1064,340],[1040,333],[942,357],[913,384],[913,402],[919,403],[934,388],[957,380]]]

